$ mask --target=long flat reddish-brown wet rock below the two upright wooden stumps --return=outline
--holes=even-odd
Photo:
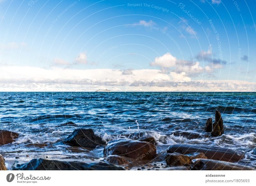
[[[229,162],[237,162],[244,159],[244,153],[233,151],[227,148],[220,148],[206,145],[190,145],[190,144],[176,144],[171,145],[167,153],[177,152],[180,154],[190,154],[193,152],[203,152],[208,159],[222,160]]]

